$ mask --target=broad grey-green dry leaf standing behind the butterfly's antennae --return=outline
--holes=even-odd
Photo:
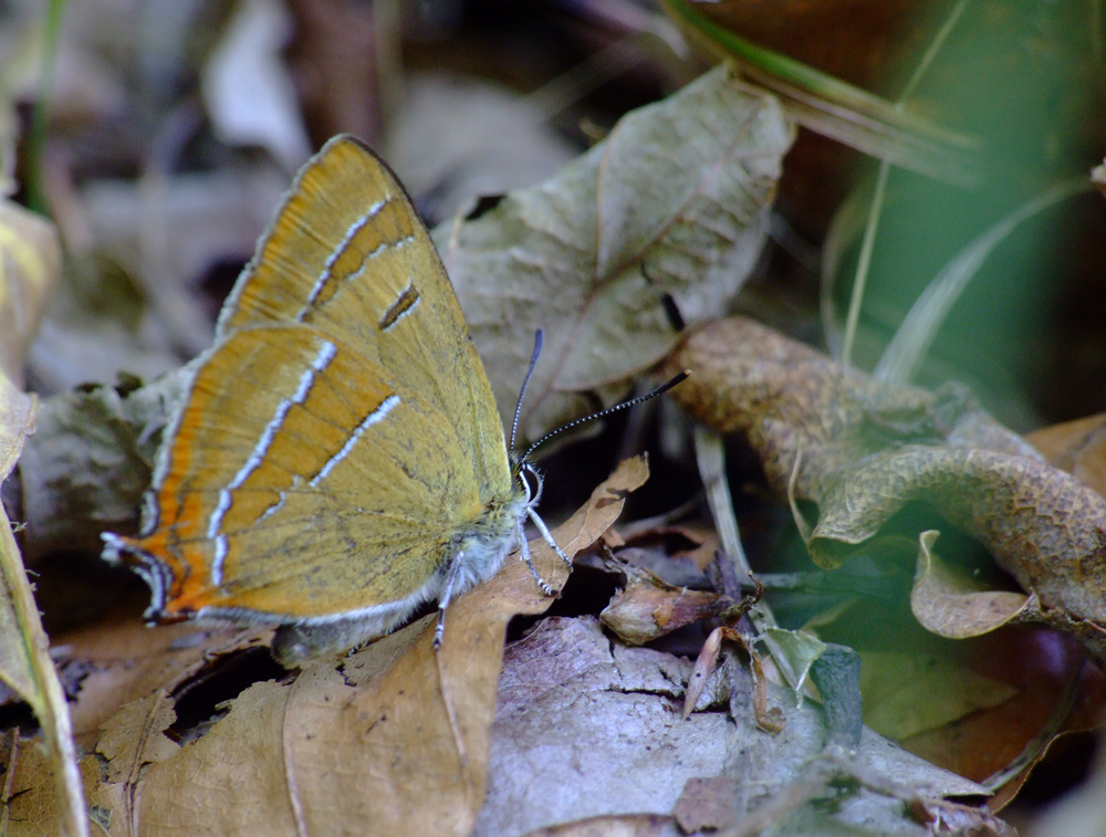
[[[550,180],[437,230],[501,410],[545,329],[524,436],[578,415],[576,394],[625,389],[667,354],[679,331],[666,305],[695,323],[732,297],[792,139],[775,98],[719,67],[626,115]]]

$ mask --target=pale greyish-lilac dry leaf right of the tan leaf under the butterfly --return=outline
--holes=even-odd
[[[695,778],[737,780],[742,793],[733,802],[743,819],[822,750],[821,710],[813,701],[796,704],[789,689],[771,684],[768,700],[785,722],[779,735],[758,730],[752,712],[700,711],[679,722],[690,673],[686,659],[612,642],[594,617],[539,622],[504,655],[488,795],[473,837],[669,814]],[[727,698],[720,700],[724,705]],[[981,791],[870,730],[863,732],[856,762],[925,797]],[[817,806],[804,812],[805,831],[789,828],[791,820],[773,824],[781,834],[852,833],[860,823],[872,834],[919,833],[902,825],[898,799],[860,789],[837,802],[833,813]]]

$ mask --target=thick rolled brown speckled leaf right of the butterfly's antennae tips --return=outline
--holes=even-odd
[[[668,365],[695,370],[672,391],[692,416],[745,435],[776,492],[817,503],[808,547],[821,566],[921,501],[1106,656],[1106,500],[962,389],[884,385],[743,317],[697,332]]]

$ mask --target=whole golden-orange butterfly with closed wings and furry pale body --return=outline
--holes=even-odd
[[[409,199],[337,137],[191,366],[138,536],[104,554],[147,580],[149,618],[279,625],[294,662],[491,577],[538,494]]]

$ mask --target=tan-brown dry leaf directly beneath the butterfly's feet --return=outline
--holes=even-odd
[[[628,460],[599,485],[554,531],[565,553],[594,542],[647,473],[644,459]],[[541,540],[531,550],[542,575],[562,585],[560,558]],[[484,798],[507,624],[550,604],[525,565],[509,561],[453,603],[439,652],[428,616],[337,665],[320,660],[292,682],[249,687],[184,746],[164,734],[175,711],[166,695],[197,677],[205,655],[186,648],[174,662],[165,649],[100,722],[98,755],[85,762],[90,799],[133,833],[358,834],[372,824],[374,833],[468,834]],[[136,697],[139,682],[149,692]],[[88,707],[90,721],[103,714],[102,701]]]

